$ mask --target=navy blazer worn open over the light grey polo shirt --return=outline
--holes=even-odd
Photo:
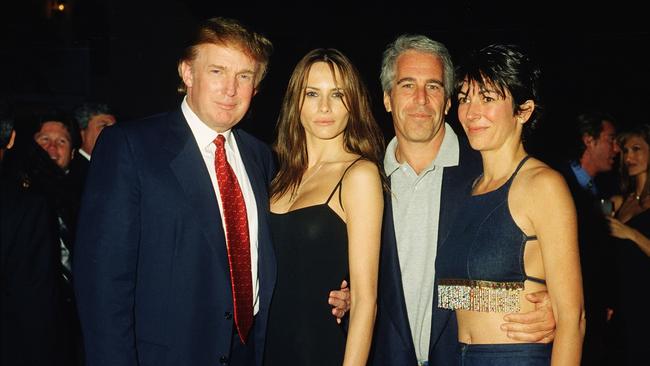
[[[450,225],[458,213],[456,203],[466,192],[464,188],[481,172],[481,160],[478,153],[472,150],[460,135],[458,139],[460,145],[459,165],[444,168],[443,171],[440,219],[437,223],[437,245],[440,245],[449,233]],[[431,225],[436,225],[436,223],[431,223]],[[384,197],[382,230],[377,319],[370,364],[375,366],[417,365],[404,300],[390,193]],[[435,263],[431,263],[431,265],[433,266]],[[451,311],[438,309],[435,292],[433,300],[429,365],[457,364],[458,332],[455,317]]]

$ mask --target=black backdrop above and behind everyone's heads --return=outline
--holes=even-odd
[[[54,10],[60,4],[64,11]],[[176,61],[188,31],[201,19],[226,16],[275,45],[245,129],[271,142],[293,66],[313,48],[334,47],[360,69],[390,138],[379,69],[383,49],[397,35],[441,41],[455,61],[488,43],[519,43],[537,55],[544,73],[545,119],[530,149],[548,160],[566,151],[572,122],[586,109],[607,111],[622,127],[650,122],[650,26],[640,7],[620,1],[599,7],[570,1],[14,0],[0,8],[0,93],[23,114],[84,100],[109,103],[119,120],[176,108]]]

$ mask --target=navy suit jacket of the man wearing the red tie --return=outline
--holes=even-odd
[[[257,203],[259,312],[249,342],[260,365],[276,272],[267,191],[273,160],[264,143],[233,133]],[[180,109],[102,132],[76,250],[87,365],[229,362],[234,321],[225,236]]]

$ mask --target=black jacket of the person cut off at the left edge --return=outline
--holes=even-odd
[[[66,364],[53,218],[45,197],[0,181],[2,365]]]

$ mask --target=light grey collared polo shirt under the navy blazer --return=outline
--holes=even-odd
[[[390,141],[384,157],[406,310],[420,362],[429,355],[443,168],[458,165],[459,159],[458,137],[446,123],[444,131],[438,156],[419,175],[395,158],[397,138]]]

